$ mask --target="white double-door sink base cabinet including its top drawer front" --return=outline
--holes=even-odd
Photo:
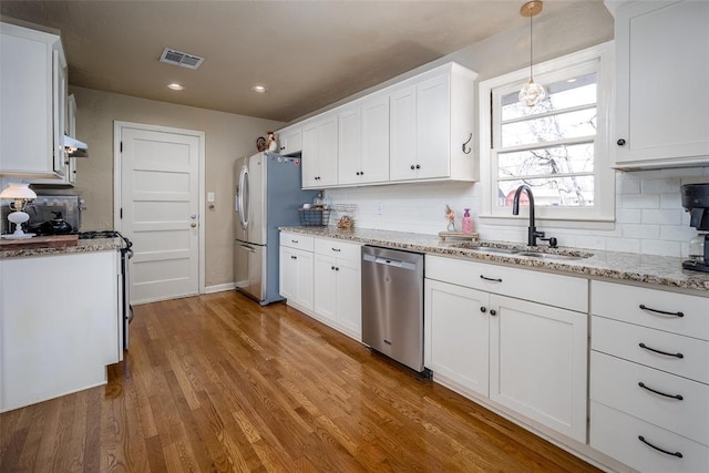
[[[587,309],[553,306],[573,294],[569,305],[587,308],[588,282],[434,256],[425,264],[424,357],[434,379],[585,443]],[[461,278],[490,290],[452,284]],[[520,280],[551,305],[510,297]]]

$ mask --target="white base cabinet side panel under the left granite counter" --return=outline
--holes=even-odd
[[[4,258],[0,274],[0,412],[105,384],[123,352],[120,254]]]

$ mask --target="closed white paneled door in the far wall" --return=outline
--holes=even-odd
[[[116,228],[133,241],[131,302],[199,292],[204,133],[116,123]]]

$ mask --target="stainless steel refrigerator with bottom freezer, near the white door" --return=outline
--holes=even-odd
[[[316,191],[302,191],[299,156],[258,153],[235,165],[236,289],[261,306],[282,300],[278,287],[278,227],[300,225],[298,208]]]

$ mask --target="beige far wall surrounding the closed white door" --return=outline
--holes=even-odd
[[[125,121],[205,132],[205,189],[214,192],[207,209],[205,285],[234,282],[233,165],[238,156],[256,152],[256,137],[280,122],[174,105],[83,88],[70,88],[76,97],[78,138],[89,145],[86,160],[78,160],[75,191],[86,209],[82,230],[113,228],[113,122]]]

